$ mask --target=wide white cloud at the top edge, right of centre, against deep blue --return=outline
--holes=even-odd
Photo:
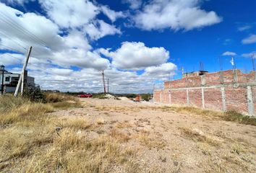
[[[222,21],[216,12],[200,9],[198,0],[153,0],[133,19],[142,30],[192,30]]]

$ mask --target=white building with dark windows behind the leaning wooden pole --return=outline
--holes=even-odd
[[[11,72],[3,69],[4,66],[0,66],[0,89],[2,89],[2,76],[4,71],[4,92],[15,92],[16,86],[20,79],[20,74],[12,74]],[[24,84],[35,86],[35,79],[27,76],[27,71],[25,71]]]

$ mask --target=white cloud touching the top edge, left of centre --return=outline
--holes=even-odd
[[[43,9],[60,27],[81,27],[99,13],[98,6],[91,1],[39,0]]]

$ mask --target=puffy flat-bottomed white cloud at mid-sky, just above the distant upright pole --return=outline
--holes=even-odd
[[[169,52],[165,48],[148,48],[144,43],[124,42],[121,48],[114,52],[100,50],[104,56],[113,59],[112,65],[124,70],[140,70],[148,66],[158,66],[169,58]]]

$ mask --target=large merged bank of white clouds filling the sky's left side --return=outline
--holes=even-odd
[[[165,48],[148,48],[144,43],[124,42],[117,50],[95,50],[91,41],[121,34],[121,30],[98,19],[101,6],[93,4],[94,1],[79,0],[77,3],[80,6],[68,1],[41,0],[46,16],[20,12],[0,3],[0,12],[8,16],[1,15],[0,19],[0,50],[4,50],[0,53],[0,61],[7,66],[7,70],[20,73],[27,51],[24,48],[32,45],[27,69],[42,89],[102,92],[101,70],[104,69],[106,79],[110,79],[111,92],[152,92],[154,81],[167,80],[170,74],[174,75],[175,65],[166,63],[169,53]],[[92,6],[93,10],[81,12],[80,7],[88,6]],[[85,13],[88,15],[81,17]],[[106,15],[111,17],[111,14]],[[110,19],[114,22],[117,18],[118,15]],[[9,22],[20,29],[8,25]],[[103,58],[100,52],[110,57],[111,61]],[[135,70],[138,69],[142,70],[142,74],[137,74]]]

